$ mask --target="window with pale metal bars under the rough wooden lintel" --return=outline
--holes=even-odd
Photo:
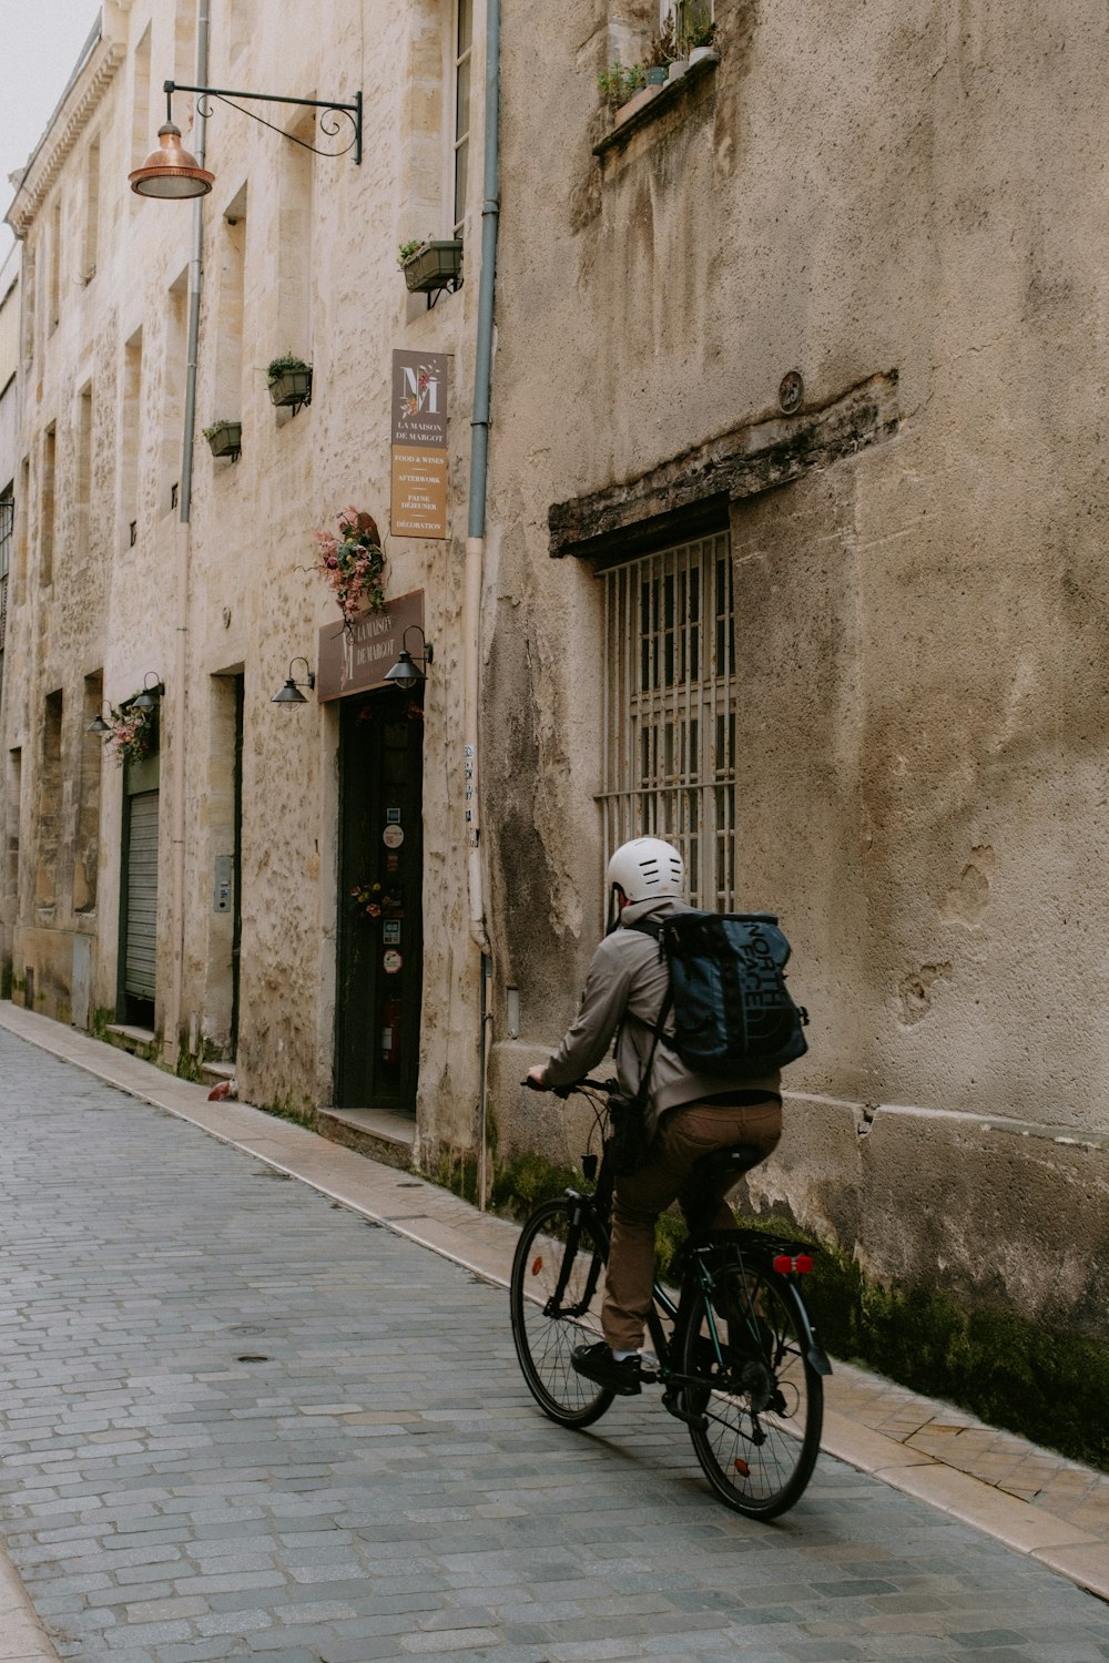
[[[605,861],[633,836],[682,850],[690,901],[735,905],[735,639],[727,534],[602,570]]]

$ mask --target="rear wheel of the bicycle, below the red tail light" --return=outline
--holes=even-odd
[[[693,1450],[720,1500],[750,1518],[776,1518],[813,1475],[825,1389],[805,1355],[801,1295],[788,1277],[743,1269],[717,1277],[712,1315],[690,1305],[677,1355],[703,1385],[687,1387]]]

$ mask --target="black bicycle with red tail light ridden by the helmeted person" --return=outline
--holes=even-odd
[[[582,1079],[580,1093],[602,1134],[600,1171],[582,1156],[592,1191],[567,1189],[530,1214],[512,1261],[512,1339],[527,1387],[550,1420],[592,1425],[610,1407],[605,1387],[574,1370],[575,1345],[600,1337],[600,1294],[609,1257],[614,1176],[604,1139],[615,1081]],[[592,1133],[589,1137],[592,1146]],[[695,1179],[735,1181],[760,1154],[738,1144],[713,1151]],[[718,1192],[718,1189],[717,1189]],[[803,1242],[755,1229],[690,1237],[675,1257],[677,1300],[658,1281],[647,1315],[653,1357],[640,1380],[662,1385],[662,1404],[685,1422],[715,1495],[748,1518],[776,1518],[803,1493],[823,1427],[823,1375],[831,1374],[798,1279],[813,1267]]]

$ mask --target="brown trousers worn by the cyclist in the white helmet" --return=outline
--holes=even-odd
[[[647,1164],[633,1177],[617,1179],[612,1249],[600,1309],[600,1327],[612,1350],[638,1350],[643,1344],[655,1276],[658,1214],[677,1201],[692,1229],[727,1231],[735,1226],[735,1216],[723,1199],[735,1179],[725,1179],[725,1187],[708,1197],[708,1217],[690,1217],[690,1206],[695,1202],[690,1186],[693,1162],[730,1144],[753,1144],[762,1149],[762,1159],[766,1159],[780,1136],[781,1104],[776,1098],[745,1108],[687,1103],[663,1116]]]

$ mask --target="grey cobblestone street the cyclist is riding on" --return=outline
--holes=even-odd
[[[830,1455],[760,1527],[653,1397],[560,1432],[500,1287],[7,1031],[0,1121],[0,1535],[62,1658],[1109,1658]]]

